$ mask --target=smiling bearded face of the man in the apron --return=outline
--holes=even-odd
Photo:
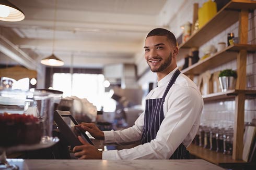
[[[145,41],[145,59],[152,72],[170,68],[172,47],[165,36],[150,36]]]

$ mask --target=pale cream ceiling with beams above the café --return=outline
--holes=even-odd
[[[176,1],[57,0],[56,10],[53,0],[10,2],[25,13],[25,20],[0,21],[1,32],[8,32],[6,39],[25,58],[39,64],[54,53],[65,62],[64,67],[101,68],[134,63],[135,56],[143,53],[148,31],[164,27],[159,22],[161,12],[165,13],[167,3]]]

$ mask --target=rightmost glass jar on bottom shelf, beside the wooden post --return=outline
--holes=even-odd
[[[227,131],[223,134],[223,153],[231,155],[233,151],[233,132]]]

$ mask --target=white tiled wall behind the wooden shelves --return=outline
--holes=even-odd
[[[199,3],[201,7],[202,4],[206,2],[206,0],[198,0],[198,1],[185,1],[183,3],[182,8],[180,8],[179,13],[177,13],[175,18],[169,22],[170,31],[178,37],[182,30],[180,29],[180,25],[183,23],[190,21],[192,22],[192,14],[193,14],[193,4]],[[248,43],[255,44],[256,42],[256,10],[249,14],[249,28],[248,28]],[[238,36],[238,22],[231,25],[231,27],[224,30],[222,33],[215,36],[212,40],[205,43],[200,49],[200,58],[203,56],[202,48],[207,45],[217,45],[218,42],[227,42],[227,34],[229,32],[234,32],[235,36]],[[183,66],[183,60],[178,62],[178,67]],[[213,70],[210,70],[212,73],[224,70],[224,69],[234,69],[236,70],[237,63],[236,60],[223,64]],[[145,74],[143,79],[148,79],[147,74]],[[196,81],[196,79],[195,79]],[[146,81],[147,82],[147,81]],[[142,82],[139,81],[143,86]],[[249,54],[247,56],[247,89],[256,90],[256,53]],[[227,127],[232,126],[234,124],[234,113],[235,113],[235,101],[225,100],[225,101],[215,101],[215,102],[207,102],[204,104],[204,110],[201,117],[201,123],[203,125],[210,126],[220,126]],[[256,99],[248,99],[245,103],[245,122],[251,122],[251,120],[256,119]]]

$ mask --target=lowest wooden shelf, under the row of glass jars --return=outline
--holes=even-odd
[[[231,155],[226,155],[223,153],[205,149],[203,147],[196,146],[192,143],[187,149],[189,150],[190,154],[219,166],[227,167],[228,165],[231,164],[233,166],[234,164],[248,164],[247,162],[242,160],[233,160]]]

